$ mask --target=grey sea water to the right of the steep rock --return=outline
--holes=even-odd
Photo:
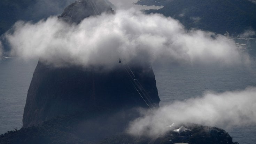
[[[239,51],[256,58],[256,39],[234,39]],[[160,106],[174,101],[200,97],[205,91],[225,92],[256,87],[256,66],[154,66]],[[153,68],[154,68],[153,67]],[[256,96],[256,94],[255,94]],[[231,101],[232,102],[232,101]],[[255,110],[256,111],[256,110]],[[193,122],[193,121],[192,121]],[[256,142],[256,125],[224,128],[233,141]]]

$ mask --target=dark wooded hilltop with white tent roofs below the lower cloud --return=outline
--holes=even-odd
[[[164,136],[149,138],[135,137],[128,134],[118,135],[113,138],[104,139],[101,144],[238,144],[232,142],[232,137],[225,130],[216,127],[206,127],[191,124],[191,131],[182,133],[170,130]]]

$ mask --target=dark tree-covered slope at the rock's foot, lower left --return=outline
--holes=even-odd
[[[90,144],[77,136],[78,119],[59,117],[42,125],[12,130],[0,135],[0,144]]]

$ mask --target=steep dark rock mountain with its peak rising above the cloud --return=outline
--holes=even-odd
[[[104,11],[113,12],[105,1],[83,0],[68,6],[59,18],[79,23]],[[28,90],[23,127],[77,112],[158,107],[160,99],[150,64],[135,63],[117,60],[114,69],[100,71],[94,66],[56,68],[39,60]]]

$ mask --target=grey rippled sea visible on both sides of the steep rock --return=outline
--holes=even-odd
[[[235,39],[239,50],[256,57],[256,39]],[[37,60],[0,58],[0,134],[22,126],[26,94]],[[199,97],[205,91],[225,92],[256,87],[256,67],[153,66],[160,106]],[[222,127],[220,127],[222,128]],[[225,129],[225,128],[224,128]],[[256,142],[256,125],[225,129],[240,144]]]

